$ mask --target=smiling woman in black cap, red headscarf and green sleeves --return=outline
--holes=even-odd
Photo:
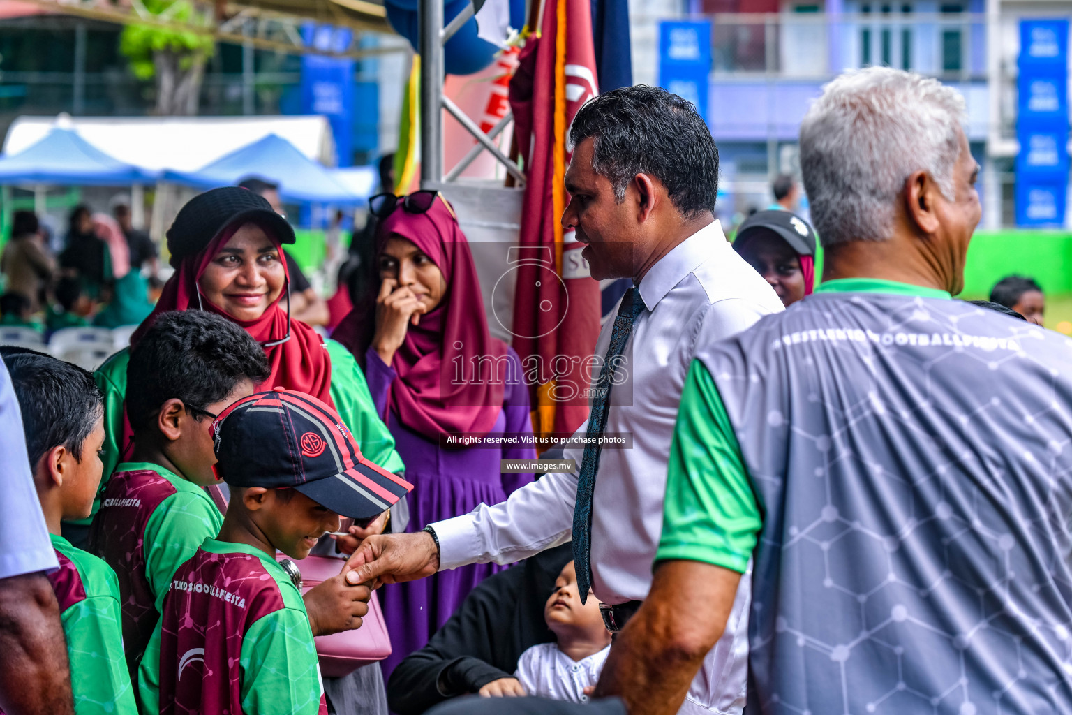
[[[293,242],[291,224],[254,192],[223,187],[190,199],[167,232],[175,273],[164,286],[154,312],[132,337],[131,345],[136,348],[157,316],[168,311],[206,310],[222,315],[242,327],[265,349],[271,367],[265,385],[308,392],[332,405],[366,458],[390,472],[402,473],[404,466],[394,451],[394,438],[377,416],[354,356],[288,315],[284,300],[287,268],[280,248]],[[124,428],[123,407],[129,361],[130,351],[122,349],[95,373],[104,392],[108,433],[104,466],[109,475],[116,464],[131,456],[132,435]],[[405,501],[390,513],[390,527],[405,528]],[[367,528],[351,526],[351,533],[363,538],[382,532],[387,522],[385,511]],[[322,554],[321,549],[328,552]],[[316,553],[336,555],[334,542],[325,540]],[[358,668],[347,677],[326,679],[325,687],[339,713],[349,713],[360,705],[367,712],[386,715],[387,697],[378,664]]]

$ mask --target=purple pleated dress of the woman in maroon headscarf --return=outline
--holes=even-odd
[[[512,374],[523,374],[512,347],[507,355],[515,362],[517,372]],[[366,366],[369,391],[376,411],[383,415],[387,389],[396,377],[394,370],[385,364],[372,347],[366,352]],[[532,434],[528,409],[527,388],[523,384],[507,384],[503,408],[491,432]],[[414,486],[408,496],[407,532],[468,513],[481,503],[503,502],[513,490],[533,480],[531,473],[500,472],[503,459],[535,459],[536,450],[531,447],[445,449],[438,444],[438,435],[429,438],[410,430],[399,422],[394,413],[387,415],[386,422],[394,435],[394,448],[405,462],[405,478]],[[476,584],[502,568],[495,564],[473,564],[418,581],[386,584],[379,598],[391,637],[391,655],[381,664],[384,681],[390,677],[402,658],[428,644],[432,634],[450,617]]]

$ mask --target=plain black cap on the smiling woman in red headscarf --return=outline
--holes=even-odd
[[[294,243],[294,228],[272,210],[268,199],[249,189],[221,187],[197,194],[179,209],[167,229],[169,263],[205,250],[224,228],[239,221],[254,221],[270,230],[280,243]]]

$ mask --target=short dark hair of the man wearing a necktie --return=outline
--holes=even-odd
[[[619,203],[637,174],[650,174],[685,219],[714,210],[718,147],[690,102],[646,85],[612,89],[574,118],[569,140],[589,138],[592,169],[610,180]]]

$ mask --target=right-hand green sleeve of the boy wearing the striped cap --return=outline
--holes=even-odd
[[[281,608],[250,626],[239,664],[242,712],[316,715],[319,711],[324,687],[303,609]]]

